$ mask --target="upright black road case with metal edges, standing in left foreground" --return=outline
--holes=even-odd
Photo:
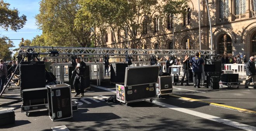
[[[47,86],[49,117],[59,121],[73,117],[71,104],[71,87],[68,84]]]

